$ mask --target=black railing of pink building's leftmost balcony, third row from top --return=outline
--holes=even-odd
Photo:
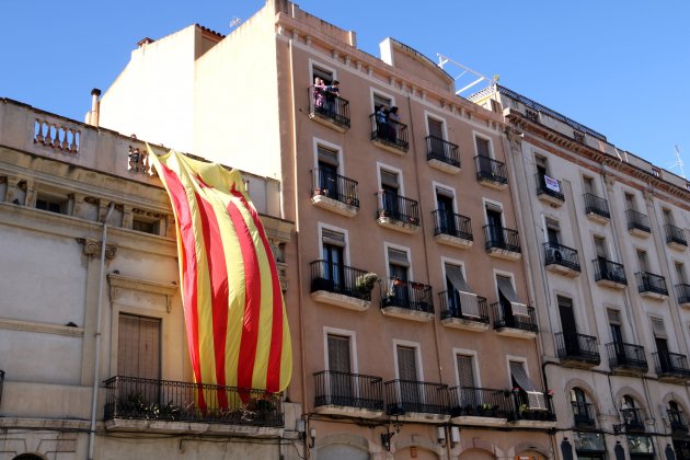
[[[311,268],[311,291],[325,290],[355,297],[363,300],[371,300],[371,291],[358,286],[358,278],[368,272],[343,264],[334,264],[329,261],[313,261]]]

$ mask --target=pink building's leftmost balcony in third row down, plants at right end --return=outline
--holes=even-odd
[[[361,280],[368,272],[329,261],[313,261],[311,269],[311,298],[348,310],[365,311],[371,304],[371,290]]]

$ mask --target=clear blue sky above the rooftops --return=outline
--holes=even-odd
[[[690,176],[690,2],[459,0],[297,2],[357,33],[375,56],[391,36],[440,53],[671,169],[680,146]],[[193,23],[227,34],[264,0],[0,1],[0,96],[83,119],[145,36]],[[200,152],[199,152],[200,153]],[[203,154],[203,153],[202,153]]]

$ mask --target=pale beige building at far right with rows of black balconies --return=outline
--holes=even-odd
[[[508,123],[559,444],[690,458],[688,182],[509,89],[471,100]]]

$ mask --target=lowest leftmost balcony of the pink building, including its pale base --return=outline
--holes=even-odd
[[[314,373],[314,411],[360,418],[383,416],[383,379],[350,372]]]

